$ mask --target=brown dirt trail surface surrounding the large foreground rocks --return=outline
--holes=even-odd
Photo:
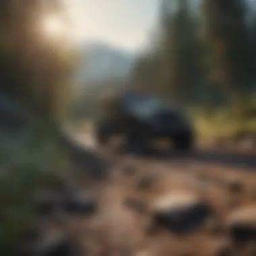
[[[193,154],[161,157],[129,156],[98,149],[88,135],[77,135],[76,140],[87,150],[90,148],[91,152],[109,160],[106,170],[109,176],[93,184],[88,184],[87,176],[78,178],[80,184],[85,179],[82,190],[97,194],[98,210],[90,216],[69,214],[65,234],[69,234],[75,253],[71,249],[69,254],[49,255],[255,255],[255,243],[247,241],[241,246],[226,228],[232,212],[248,205],[256,207],[256,172],[252,171],[256,170],[256,159],[252,154],[198,150]],[[84,162],[79,168],[86,172],[92,164]],[[182,201],[177,191],[181,195],[198,195],[213,211],[196,232],[176,234],[168,229],[167,220],[162,226],[153,221],[154,205],[162,196],[175,195],[176,201]],[[168,218],[179,222],[179,216],[169,214],[170,209],[166,211]],[[250,221],[256,234],[254,219]],[[185,221],[189,225],[194,217]]]

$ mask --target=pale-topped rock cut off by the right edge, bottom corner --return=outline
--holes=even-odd
[[[226,225],[234,243],[256,241],[256,206],[234,210],[228,216]]]

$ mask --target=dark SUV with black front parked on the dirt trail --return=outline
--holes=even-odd
[[[193,127],[184,113],[149,94],[126,93],[104,104],[96,139],[104,145],[115,135],[123,135],[133,150],[148,150],[150,142],[160,138],[174,150],[191,150],[194,143]]]

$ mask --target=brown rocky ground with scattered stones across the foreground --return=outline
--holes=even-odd
[[[40,191],[24,255],[256,255],[253,152],[135,157],[77,141],[108,160],[108,175],[91,175],[100,160],[81,156],[68,192]]]

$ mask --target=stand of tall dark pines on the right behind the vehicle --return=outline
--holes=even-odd
[[[245,0],[175,3],[162,0],[160,40],[138,58],[133,87],[186,106],[221,105],[234,119],[251,115],[246,105],[256,90],[256,12],[249,17]]]

